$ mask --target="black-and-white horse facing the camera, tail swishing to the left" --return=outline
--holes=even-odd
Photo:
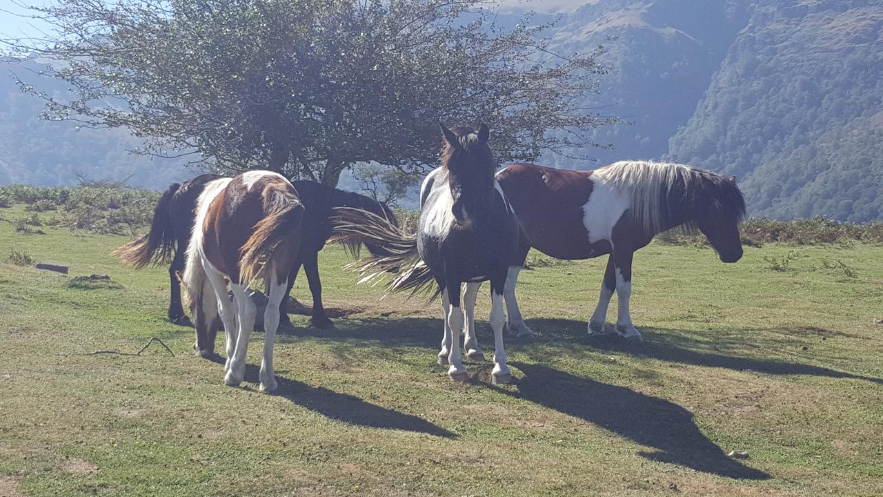
[[[474,340],[475,299],[482,281],[490,280],[490,325],[494,330],[494,383],[511,381],[503,348],[503,287],[509,266],[517,255],[518,225],[507,196],[494,180],[496,163],[488,147],[490,131],[467,126],[442,128],[442,165],[430,172],[420,187],[417,233],[408,234],[382,218],[343,210],[335,240],[380,241],[390,255],[372,256],[356,265],[368,274],[363,281],[387,271],[401,271],[389,290],[441,295],[444,335],[438,362],[449,364],[448,376],[466,379],[459,335],[466,325],[467,356],[483,359]],[[345,225],[349,226],[345,226]],[[465,285],[463,309],[460,288]],[[435,284],[435,285],[434,285]],[[464,316],[465,310],[465,316]],[[465,319],[464,319],[465,317]],[[465,322],[464,322],[465,321]]]

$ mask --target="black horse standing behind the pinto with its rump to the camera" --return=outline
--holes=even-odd
[[[175,183],[166,188],[159,202],[156,203],[150,231],[114,251],[114,255],[120,256],[125,263],[132,264],[137,269],[146,267],[148,264],[170,264],[171,295],[168,316],[170,322],[176,325],[192,326],[192,321],[187,317],[181,305],[181,290],[177,274],[184,271],[185,254],[190,243],[190,234],[196,216],[196,201],[209,181],[221,178],[217,174],[202,174],[192,180],[180,184]],[[339,207],[367,210],[389,219],[390,222],[398,226],[396,216],[385,203],[377,202],[366,195],[328,187],[315,181],[293,181],[292,185],[298,190],[300,202],[304,204],[306,211],[304,212],[300,256],[289,274],[288,293],[291,293],[291,287],[294,286],[298,271],[303,265],[306,279],[309,281],[310,293],[313,294],[311,323],[320,328],[333,326],[322,305],[318,259],[319,252],[325,247],[331,234],[334,233],[334,225],[329,221],[333,210]],[[358,254],[358,245],[347,248],[353,254]],[[372,255],[383,254],[382,248],[375,244],[366,244],[366,248]],[[172,256],[173,253],[174,256]],[[282,321],[284,323],[288,321],[287,299],[283,299],[282,306]],[[207,350],[200,350],[200,354],[205,354]]]

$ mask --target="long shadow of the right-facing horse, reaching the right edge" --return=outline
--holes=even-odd
[[[835,371],[829,368],[804,363],[789,363],[773,359],[757,359],[745,356],[725,356],[713,352],[703,352],[690,348],[692,340],[683,337],[683,332],[664,328],[644,328],[645,341],[632,343],[618,335],[588,335],[585,323],[570,319],[536,319],[529,325],[543,330],[543,339],[555,346],[588,346],[611,352],[623,352],[632,356],[650,357],[669,363],[683,363],[694,366],[725,368],[734,371],[757,371],[772,375],[808,375],[828,378],[849,378],[883,384],[883,379]],[[823,330],[817,330],[819,334]],[[834,332],[827,332],[832,333]],[[746,338],[751,342],[751,338]],[[528,352],[530,356],[530,353]]]

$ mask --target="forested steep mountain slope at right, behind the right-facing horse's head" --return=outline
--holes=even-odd
[[[755,7],[668,157],[743,177],[754,216],[883,218],[883,2]]]

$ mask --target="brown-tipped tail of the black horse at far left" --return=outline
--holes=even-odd
[[[132,264],[135,269],[141,269],[147,264],[170,263],[171,252],[175,248],[175,233],[173,233],[169,204],[180,187],[179,183],[173,183],[162,192],[160,201],[156,203],[154,209],[150,231],[114,250],[112,252],[114,256],[119,256],[125,264]]]

